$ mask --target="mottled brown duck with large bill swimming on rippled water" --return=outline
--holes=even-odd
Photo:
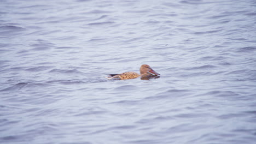
[[[141,68],[139,68],[139,71],[141,74],[129,71],[121,74],[109,74],[106,79],[108,80],[128,80],[128,79],[136,79],[137,77],[141,77],[141,79],[148,78],[149,77],[159,77],[159,73],[156,73],[148,64],[141,65]]]

